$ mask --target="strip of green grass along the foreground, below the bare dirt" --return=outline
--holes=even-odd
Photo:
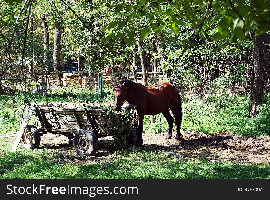
[[[40,150],[7,153],[0,158],[0,178],[270,178],[266,164],[176,159],[146,151],[116,151],[110,163],[69,164]],[[83,158],[80,158],[83,159]]]

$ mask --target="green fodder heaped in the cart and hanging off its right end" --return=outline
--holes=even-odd
[[[112,136],[115,144],[118,147],[128,147],[127,141],[130,134],[130,128],[136,125],[134,118],[137,118],[137,111],[133,107],[122,107],[121,111],[117,112],[114,107],[108,105],[66,105],[66,108],[90,108],[90,109],[106,109],[105,114],[109,122],[111,122]]]

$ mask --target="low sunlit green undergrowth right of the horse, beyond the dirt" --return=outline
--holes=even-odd
[[[269,94],[264,94],[263,103],[258,106],[256,118],[248,118],[249,96],[229,97],[222,104],[221,111],[208,110],[203,100],[192,98],[183,104],[183,129],[205,133],[230,130],[232,133],[250,136],[270,135]]]

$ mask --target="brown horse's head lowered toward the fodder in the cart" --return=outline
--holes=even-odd
[[[112,84],[112,86],[114,87],[114,110],[120,111],[122,104],[125,100],[127,100],[125,81],[120,81],[119,83]]]

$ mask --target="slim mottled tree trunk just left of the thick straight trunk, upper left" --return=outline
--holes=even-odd
[[[45,13],[42,14],[42,29],[43,29],[43,42],[44,42],[44,68],[46,71],[50,72],[50,55],[49,55],[49,50],[50,50],[50,38],[49,38],[49,29],[48,29],[48,24],[47,20],[45,17]]]

